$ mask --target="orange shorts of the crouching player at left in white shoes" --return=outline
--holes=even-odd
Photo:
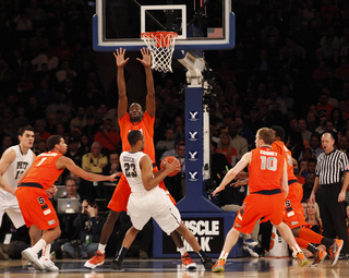
[[[56,210],[45,190],[20,186],[15,191],[26,227],[35,225],[40,230],[59,226]]]

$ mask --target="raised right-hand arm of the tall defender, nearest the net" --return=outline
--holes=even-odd
[[[143,56],[143,60],[137,58],[137,60],[144,65],[145,70],[145,77],[146,77],[146,112],[153,118],[155,117],[155,89],[154,89],[154,80],[153,80],[153,72],[151,69],[152,65],[152,53],[149,49],[143,48],[141,49],[141,53]]]

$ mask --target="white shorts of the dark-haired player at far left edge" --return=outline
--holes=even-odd
[[[7,213],[13,222],[14,227],[17,229],[21,226],[25,225],[23,219],[19,201],[15,196],[11,198],[2,198],[0,197],[0,227],[2,223],[3,214]]]

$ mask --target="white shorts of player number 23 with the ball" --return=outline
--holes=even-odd
[[[151,217],[167,234],[174,231],[181,223],[178,208],[166,195],[166,192],[158,186],[147,192],[131,193],[128,215],[133,227],[137,230],[142,230]]]

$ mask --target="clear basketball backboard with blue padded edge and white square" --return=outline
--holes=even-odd
[[[178,33],[176,50],[234,47],[231,0],[96,0],[93,43],[98,51],[145,47],[143,32]]]

